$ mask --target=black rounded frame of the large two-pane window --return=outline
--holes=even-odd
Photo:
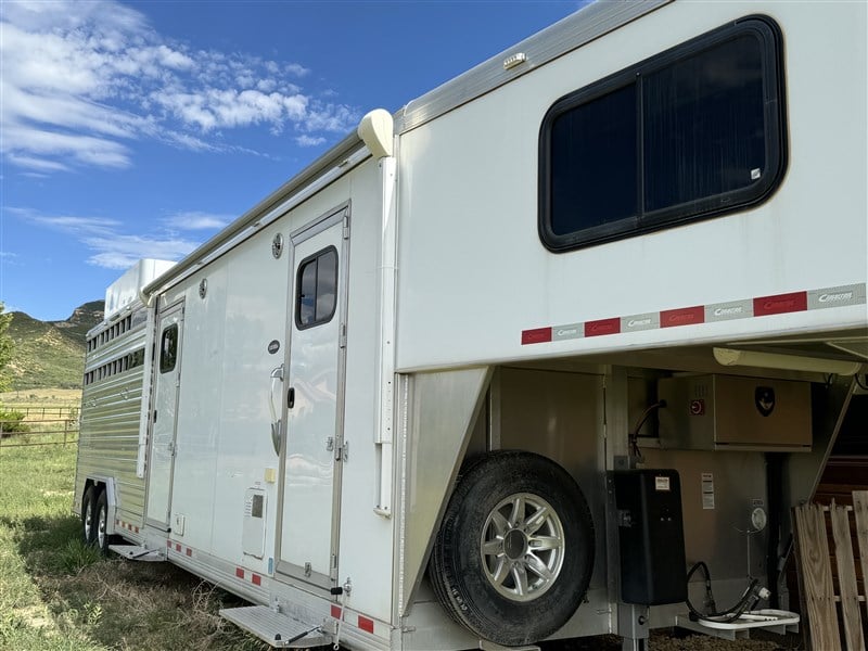
[[[765,163],[761,179],[749,186],[646,212],[644,77],[684,62],[706,50],[745,35],[757,39],[761,48],[764,94]],[[765,15],[750,15],[675,46],[644,61],[623,68],[557,100],[547,111],[539,129],[539,177],[537,226],[539,239],[549,251],[564,253],[615,240],[633,238],[684,224],[700,221],[757,205],[766,201],[783,179],[788,164],[787,106],[783,71],[783,38],[777,23]],[[579,228],[567,233],[552,229],[552,146],[551,132],[557,119],[628,86],[636,86],[636,214],[607,224]]]

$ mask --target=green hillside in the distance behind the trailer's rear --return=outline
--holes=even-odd
[[[12,388],[79,388],[85,335],[102,321],[103,308],[102,301],[86,303],[65,321],[39,321],[12,312],[9,334],[15,347],[5,369]]]

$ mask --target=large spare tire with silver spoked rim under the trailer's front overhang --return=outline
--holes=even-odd
[[[515,647],[561,628],[587,592],[593,522],[573,477],[539,455],[492,452],[459,477],[429,576],[449,615]]]

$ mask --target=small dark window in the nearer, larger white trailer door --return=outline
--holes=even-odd
[[[329,246],[302,260],[295,282],[295,324],[328,323],[337,306],[337,250]]]

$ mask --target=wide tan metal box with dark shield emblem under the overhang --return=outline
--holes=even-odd
[[[666,378],[660,445],[682,450],[810,450],[810,383],[737,375]]]

